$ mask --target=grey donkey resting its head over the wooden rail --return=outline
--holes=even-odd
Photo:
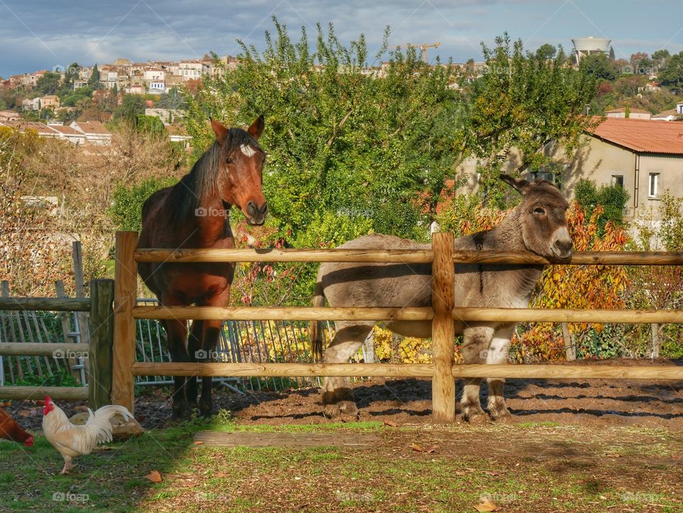
[[[522,201],[496,228],[455,239],[455,250],[526,250],[554,262],[571,258],[573,244],[566,221],[568,202],[549,181],[526,181],[501,175],[502,181],[521,193]],[[374,234],[350,240],[339,248],[429,249],[393,236]],[[314,306],[331,307],[429,307],[430,264],[323,263],[316,284]],[[526,308],[539,282],[543,265],[455,265],[455,306]],[[504,364],[509,354],[515,323],[465,322],[455,319],[455,334],[464,337],[462,357],[466,364]],[[370,334],[374,321],[337,321],[336,332],[324,351],[327,363],[345,363],[356,354]],[[431,322],[391,321],[384,325],[406,337],[431,337]],[[311,324],[311,339],[322,354],[322,327]],[[454,341],[455,342],[455,341]],[[488,379],[490,418],[509,416],[503,396],[504,379]],[[466,379],[461,408],[471,423],[488,421],[480,405],[482,378]],[[355,418],[358,410],[349,380],[327,378],[322,399],[329,417]]]

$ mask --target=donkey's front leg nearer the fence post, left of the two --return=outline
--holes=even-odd
[[[483,364],[484,351],[489,347],[494,329],[488,325],[472,324],[463,330],[464,341],[462,343],[462,359],[465,364]],[[465,379],[462,391],[462,416],[470,423],[485,423],[489,420],[482,410],[479,401],[479,393],[482,378]]]

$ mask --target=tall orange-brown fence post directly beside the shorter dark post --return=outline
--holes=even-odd
[[[133,307],[137,296],[137,232],[117,231],[114,267],[114,361],[112,367],[112,404],[133,412],[135,361],[135,319]]]

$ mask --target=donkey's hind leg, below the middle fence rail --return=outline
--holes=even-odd
[[[325,363],[346,364],[370,334],[374,322],[338,321],[334,339],[325,351]],[[325,378],[322,402],[327,404],[325,416],[358,416],[349,378]]]

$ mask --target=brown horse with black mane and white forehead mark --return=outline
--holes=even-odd
[[[211,120],[216,142],[173,187],[149,196],[142,206],[140,248],[234,248],[228,213],[235,205],[250,225],[268,213],[261,184],[265,152],[258,117],[248,130],[227,129]],[[138,273],[161,305],[224,307],[230,297],[233,263],[139,263]],[[194,320],[186,342],[183,320],[164,321],[172,361],[212,361],[222,321]],[[174,378],[173,416],[197,405],[196,378]],[[211,415],[211,377],[201,381],[199,411]]]

